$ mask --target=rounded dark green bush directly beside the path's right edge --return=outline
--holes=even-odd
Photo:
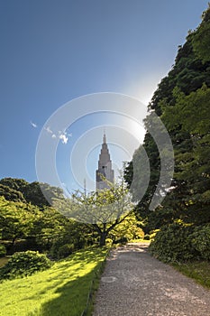
[[[179,223],[162,227],[151,241],[149,246],[151,254],[166,263],[196,259],[198,253],[192,246],[190,238],[193,229]]]

